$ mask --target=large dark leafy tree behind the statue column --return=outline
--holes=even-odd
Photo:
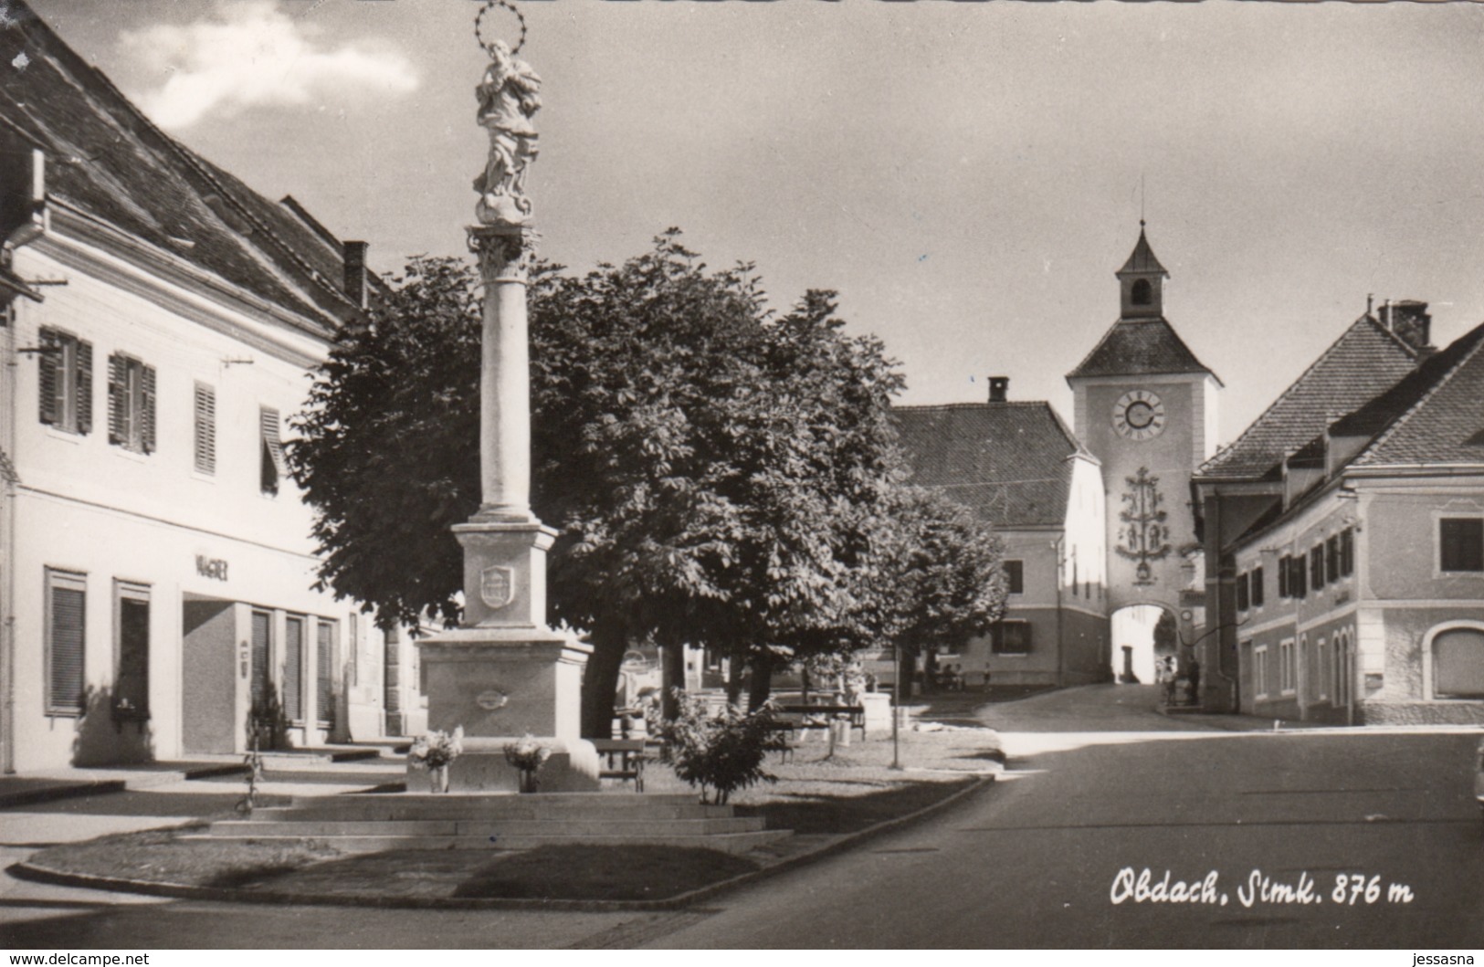
[[[383,624],[454,620],[478,506],[472,273],[414,260],[347,329],[292,448],[319,510],[321,577]],[[770,320],[748,267],[653,251],[531,286],[533,492],[558,528],[552,615],[595,645],[583,727],[605,734],[628,642],[654,636],[767,660],[837,647],[868,546],[862,507],[892,466],[901,377],[849,338],[830,294]]]

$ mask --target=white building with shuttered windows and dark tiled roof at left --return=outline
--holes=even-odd
[[[10,47],[0,239],[40,301],[0,331],[0,768],[372,739],[389,691],[416,727],[416,650],[315,590],[285,451],[365,246],[154,129],[28,10]]]

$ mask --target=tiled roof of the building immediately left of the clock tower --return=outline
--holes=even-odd
[[[1071,461],[1085,452],[1051,403],[953,403],[892,409],[919,486],[941,488],[1000,528],[1060,527]]]

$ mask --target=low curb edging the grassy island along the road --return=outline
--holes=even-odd
[[[279,893],[272,890],[233,890],[227,887],[197,887],[180,882],[154,882],[144,879],[126,879],[120,877],[93,877],[91,874],[73,874],[62,872],[59,869],[50,869],[49,866],[40,866],[31,862],[21,862],[12,865],[6,869],[7,874],[16,879],[28,879],[31,882],[45,882],[59,887],[80,887],[88,890],[110,890],[114,893],[141,893],[145,896],[162,896],[178,900],[214,900],[226,903],[264,903],[276,906],[365,906],[372,909],[470,909],[470,911],[487,911],[487,909],[516,909],[516,911],[568,911],[568,912],[653,912],[653,911],[678,911],[690,906],[697,900],[711,899],[720,893],[736,890],[739,887],[748,885],[758,879],[773,877],[776,874],[788,872],[791,869],[798,869],[815,860],[824,859],[827,856],[834,856],[835,853],[844,853],[868,839],[887,835],[904,826],[916,823],[922,819],[932,816],[933,813],[947,810],[959,802],[962,802],[969,795],[984,789],[994,782],[994,773],[979,774],[966,785],[963,789],[953,792],[938,802],[925,805],[923,808],[908,813],[907,816],[898,816],[896,819],[883,820],[874,826],[847,834],[833,842],[827,842],[806,853],[791,856],[781,860],[772,866],[764,866],[752,872],[741,874],[730,879],[723,879],[721,882],[714,882],[705,887],[699,887],[689,893],[681,893],[678,896],[665,897],[659,900],[545,900],[545,899],[516,899],[516,897],[399,897],[399,896],[378,896],[378,894],[338,894],[325,896],[313,893]]]

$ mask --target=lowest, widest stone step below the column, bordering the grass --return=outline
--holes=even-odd
[[[257,816],[257,814],[255,814]],[[760,832],[764,828],[755,816],[715,816],[709,819],[417,819],[402,822],[358,820],[286,820],[240,819],[211,825],[214,838],[303,836],[650,836],[650,835],[718,835]]]

